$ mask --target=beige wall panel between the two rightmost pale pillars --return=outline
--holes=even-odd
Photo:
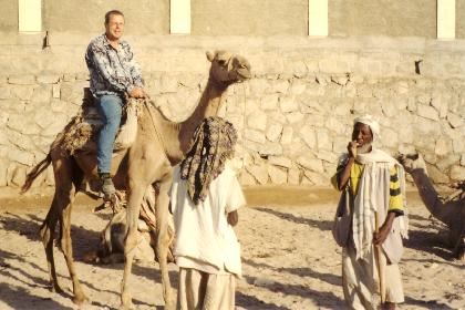
[[[330,35],[436,37],[436,0],[329,0],[328,6]]]

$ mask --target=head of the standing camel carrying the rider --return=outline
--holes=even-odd
[[[242,82],[251,78],[250,63],[242,56],[226,51],[207,52],[211,62],[209,79],[220,85]]]

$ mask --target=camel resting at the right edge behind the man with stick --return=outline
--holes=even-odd
[[[412,175],[423,204],[433,217],[448,227],[448,239],[454,248],[454,256],[465,260],[465,197],[462,195],[458,198],[441,197],[430,180],[426,163],[421,154],[401,154],[399,161]]]

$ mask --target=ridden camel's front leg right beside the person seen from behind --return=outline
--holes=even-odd
[[[162,271],[163,298],[165,300],[166,309],[175,309],[175,301],[173,299],[172,285],[169,282],[168,273],[168,205],[169,205],[169,187],[172,186],[173,175],[172,172],[158,183],[159,193],[155,202],[155,216],[157,221],[158,239],[156,249],[158,255],[159,269]]]

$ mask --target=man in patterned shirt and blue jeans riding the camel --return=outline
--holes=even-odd
[[[91,74],[91,92],[102,116],[97,140],[97,172],[105,198],[115,193],[111,177],[113,144],[120,128],[126,96],[145,97],[143,79],[124,32],[124,14],[112,10],[105,14],[105,33],[91,41],[85,62]]]

